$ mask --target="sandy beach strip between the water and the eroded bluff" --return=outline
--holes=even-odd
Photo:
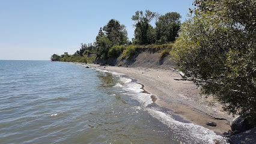
[[[230,130],[233,116],[222,111],[221,104],[200,93],[197,85],[181,79],[180,74],[171,68],[111,67],[87,64],[91,68],[123,73],[144,85],[145,91],[152,94],[154,103],[174,110],[187,121],[215,131],[217,134]],[[215,122],[216,127],[206,125]]]

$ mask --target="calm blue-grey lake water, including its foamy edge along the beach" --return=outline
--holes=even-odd
[[[212,143],[213,131],[157,106],[123,74],[0,61],[0,143]]]

